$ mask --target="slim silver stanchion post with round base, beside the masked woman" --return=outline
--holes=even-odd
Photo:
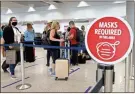
[[[25,83],[23,43],[20,43],[20,56],[21,56],[22,83],[20,85],[16,86],[16,89],[18,89],[18,90],[25,90],[25,89],[30,88],[31,85]]]

